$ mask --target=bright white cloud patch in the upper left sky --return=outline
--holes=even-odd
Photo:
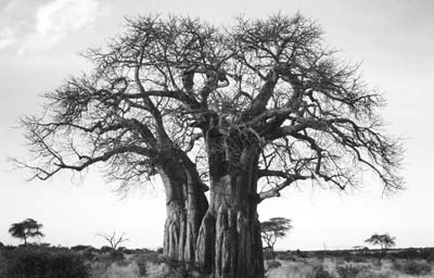
[[[18,52],[47,49],[72,31],[87,31],[95,23],[99,0],[54,0],[39,7],[35,29],[24,38]]]

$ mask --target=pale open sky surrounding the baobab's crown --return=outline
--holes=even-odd
[[[406,190],[382,197],[382,186],[366,175],[348,192],[289,188],[259,205],[259,218],[286,217],[294,228],[279,250],[348,249],[374,232],[396,237],[398,248],[434,247],[434,1],[431,0],[0,0],[0,242],[18,244],[8,229],[31,217],[43,224],[42,242],[92,244],[98,232],[125,232],[128,248],[163,244],[164,192],[158,178],[126,197],[106,185],[98,167],[82,176],[59,175],[27,181],[8,157],[25,157],[21,116],[41,110],[40,94],[91,65],[78,55],[104,46],[123,31],[125,16],[159,13],[201,17],[230,26],[238,15],[265,17],[301,12],[316,20],[324,39],[384,93],[387,132],[403,138],[400,170]]]

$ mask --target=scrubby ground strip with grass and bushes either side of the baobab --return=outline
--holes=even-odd
[[[392,250],[386,254],[367,249],[286,251],[277,252],[276,261],[270,260],[269,253],[265,257],[267,278],[434,277],[434,249]],[[65,271],[64,262],[69,267],[67,275],[62,273]],[[113,251],[85,245],[72,249],[47,245],[0,248],[0,278],[30,277],[35,274],[31,271],[37,271],[31,270],[33,267],[39,273],[46,271],[36,276],[43,278],[82,278],[82,268],[89,278],[200,277],[193,270],[165,261],[161,252],[146,249]],[[43,270],[43,267],[50,270]],[[23,271],[27,275],[23,276]]]

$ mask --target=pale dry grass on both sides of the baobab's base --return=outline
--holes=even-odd
[[[151,257],[152,256],[152,257]],[[416,276],[403,273],[396,269],[396,263],[383,260],[381,264],[376,260],[367,260],[366,262],[346,262],[343,258],[295,258],[277,260],[280,266],[267,270],[268,278],[427,278],[434,277],[434,273],[429,275]],[[401,263],[410,261],[403,260]],[[268,268],[271,261],[266,261]],[[140,271],[140,267],[145,269]],[[114,262],[111,264],[92,263],[92,278],[166,278],[180,277],[176,273],[169,273],[168,266],[162,261],[156,260],[152,254],[132,255],[125,258],[124,262]]]

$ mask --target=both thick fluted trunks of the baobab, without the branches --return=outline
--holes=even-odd
[[[166,189],[164,254],[195,263],[214,278],[263,278],[257,216],[257,150],[245,147],[228,160],[221,138],[208,138],[209,206],[195,165],[171,157],[157,165]]]

